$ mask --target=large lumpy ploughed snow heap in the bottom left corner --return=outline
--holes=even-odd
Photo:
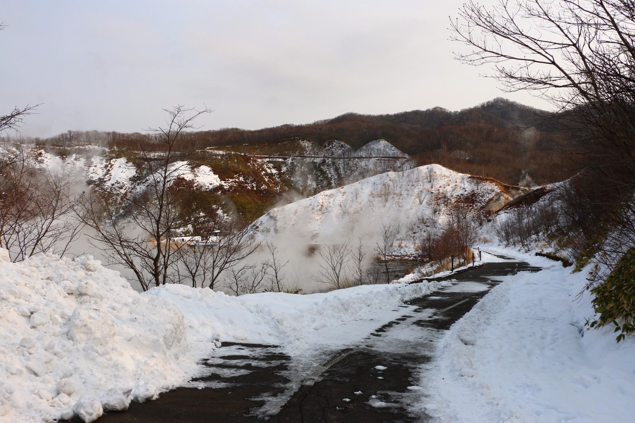
[[[90,256],[9,263],[0,253],[0,421],[91,421],[194,371],[172,304],[138,294]]]

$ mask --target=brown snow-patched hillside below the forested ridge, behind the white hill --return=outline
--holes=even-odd
[[[312,195],[374,174],[413,166],[408,155],[385,140],[371,141],[357,151],[338,140],[322,145],[300,139],[286,140],[273,147],[269,144],[238,147],[236,152],[205,150],[192,156],[192,160],[175,162],[171,164],[174,172],[170,179],[192,181],[194,188],[208,193],[215,191],[225,198],[232,193],[251,192],[250,198],[257,198],[257,205],[237,203],[250,209],[253,215],[257,209],[261,213],[269,209],[288,190]],[[266,147],[271,147],[271,151]],[[80,184],[126,192],[139,188],[147,180],[138,160],[140,152],[101,146],[27,148],[41,168],[69,174]],[[232,201],[236,203],[235,199]],[[256,218],[257,213],[248,218]]]

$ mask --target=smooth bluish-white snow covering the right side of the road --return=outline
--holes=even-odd
[[[635,339],[585,329],[584,272],[519,258],[545,270],[505,277],[451,327],[421,406],[448,422],[631,421]]]

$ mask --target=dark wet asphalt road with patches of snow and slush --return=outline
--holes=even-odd
[[[434,341],[500,283],[495,278],[538,270],[506,261],[451,275],[446,279],[457,283],[400,306],[400,317],[355,348],[333,351],[321,365],[300,373],[300,379],[282,348],[225,342],[203,363],[206,375],[155,401],[131,403],[127,412],[106,413],[99,421],[425,422],[427,416],[420,411],[411,415],[409,406],[421,400],[413,387],[425,377]]]

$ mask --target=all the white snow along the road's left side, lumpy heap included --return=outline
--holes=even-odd
[[[368,320],[371,330],[394,306],[446,285],[241,297],[165,285],[140,294],[90,256],[10,263],[6,253],[0,250],[3,423],[72,415],[92,421],[104,409],[152,400],[194,377],[218,341],[277,344],[302,358],[320,346],[356,342],[368,332],[352,320]]]

